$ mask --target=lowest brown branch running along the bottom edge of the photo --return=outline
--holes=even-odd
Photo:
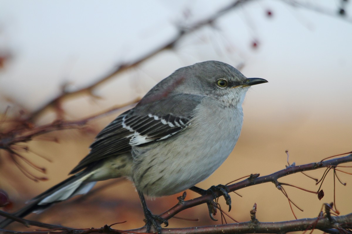
[[[328,233],[337,233],[335,230],[339,230],[340,233],[351,234],[348,229],[351,228],[352,213],[342,215],[338,217],[331,217],[331,222],[327,217],[322,218],[310,218],[310,219],[298,219],[283,222],[241,222],[241,223],[230,223],[224,225],[211,225],[191,228],[163,228],[162,233],[169,234],[223,234],[223,233],[287,233],[306,231],[312,229],[319,229]],[[89,228],[89,229],[61,229],[56,230],[43,230],[33,232],[15,232],[8,230],[1,230],[0,232],[6,234],[41,234],[41,233],[61,233],[61,234],[89,234],[89,233],[144,233],[145,228],[139,228],[134,230],[114,230],[110,226],[105,225],[102,228]]]

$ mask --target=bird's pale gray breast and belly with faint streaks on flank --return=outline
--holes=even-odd
[[[232,152],[242,121],[242,108],[212,102],[196,107],[184,131],[139,151],[142,155],[132,168],[137,189],[149,196],[164,196],[205,180]]]

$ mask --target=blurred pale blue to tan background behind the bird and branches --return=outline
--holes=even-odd
[[[219,60],[240,69],[247,77],[269,83],[247,93],[244,126],[227,161],[199,187],[225,184],[251,173],[267,175],[290,163],[304,164],[352,150],[352,6],[344,0],[243,0],[224,14],[233,2],[221,1],[20,1],[0,0],[0,111],[2,119],[30,115],[61,95],[91,85],[121,64],[142,62],[94,86],[93,95],[77,95],[61,102],[65,120],[80,120],[141,98],[158,81],[179,67]],[[215,19],[200,26],[200,22]],[[193,28],[197,26],[196,30]],[[160,50],[185,29],[172,47]],[[151,52],[157,51],[147,59]],[[9,108],[8,108],[9,107]],[[67,178],[89,151],[94,136],[127,106],[83,129],[55,131],[21,143],[25,158],[46,168],[46,181],[30,180],[0,151],[0,189],[12,206],[24,202]],[[7,110],[7,111],[6,111]],[[33,122],[56,120],[57,108]],[[0,129],[4,127],[0,127]],[[1,137],[1,134],[0,134]],[[50,159],[51,162],[42,157]],[[351,172],[348,168],[345,171]],[[324,169],[307,172],[320,179]],[[341,214],[352,212],[351,175],[339,173],[336,205]],[[315,181],[297,173],[279,180],[309,190]],[[111,184],[112,183],[112,184]],[[334,201],[333,173],[323,183],[325,196],[285,187],[298,219],[316,217],[324,202]],[[30,219],[75,228],[113,228],[144,225],[138,194],[130,181],[99,182],[93,193],[58,204]],[[232,194],[229,213],[237,221],[250,220],[256,202],[262,222],[294,219],[287,198],[274,184],[252,186]],[[153,213],[177,203],[177,196],[148,201]],[[187,198],[197,194],[187,191]],[[223,198],[221,207],[227,210]],[[199,221],[169,220],[169,227],[190,227],[213,222],[206,205],[177,215]],[[228,222],[232,222],[227,219]],[[29,230],[22,225],[11,226]]]

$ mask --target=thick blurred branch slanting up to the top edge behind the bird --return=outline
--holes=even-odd
[[[251,0],[236,0],[233,1],[231,4],[225,6],[224,8],[220,9],[218,12],[214,13],[213,15],[208,16],[207,18],[203,19],[203,20],[199,20],[197,21],[195,24],[189,26],[189,27],[183,27],[183,26],[177,26],[178,28],[178,32],[176,33],[176,35],[171,38],[166,40],[163,44],[161,44],[159,47],[157,48],[153,48],[149,53],[141,56],[140,58],[136,59],[135,61],[131,61],[131,62],[126,62],[126,63],[121,63],[120,65],[117,65],[114,69],[112,69],[111,72],[108,72],[105,75],[102,75],[100,78],[97,79],[97,81],[93,82],[92,84],[81,88],[81,89],[77,89],[76,91],[67,91],[65,90],[65,87],[63,88],[63,92],[61,95],[57,96],[56,98],[50,100],[49,102],[45,103],[42,107],[39,107],[36,111],[34,111],[30,116],[29,116],[29,120],[30,121],[34,121],[36,120],[42,113],[44,113],[44,111],[46,111],[47,109],[54,107],[54,108],[58,108],[60,109],[60,103],[62,103],[64,100],[66,99],[71,99],[71,98],[76,98],[79,95],[82,94],[88,94],[88,95],[92,95],[93,94],[93,90],[100,86],[101,84],[105,83],[106,81],[108,81],[109,79],[113,78],[115,75],[120,74],[124,71],[126,71],[127,69],[133,68],[138,66],[141,62],[151,58],[152,56],[158,54],[161,51],[164,51],[166,49],[172,49],[175,47],[176,43],[178,41],[181,40],[181,38],[183,38],[185,35],[188,35],[200,28],[202,28],[203,26],[206,25],[212,25],[213,22],[220,18],[222,15],[230,12],[232,9],[236,8],[237,6],[245,3],[245,2],[249,2]]]

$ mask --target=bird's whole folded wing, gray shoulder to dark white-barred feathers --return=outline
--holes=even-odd
[[[192,98],[191,95],[186,98],[176,95],[144,104],[143,108],[137,105],[122,113],[96,136],[90,145],[89,154],[70,174],[104,158],[130,152],[132,146],[164,140],[182,131],[190,125],[193,109],[199,102],[199,99]]]

